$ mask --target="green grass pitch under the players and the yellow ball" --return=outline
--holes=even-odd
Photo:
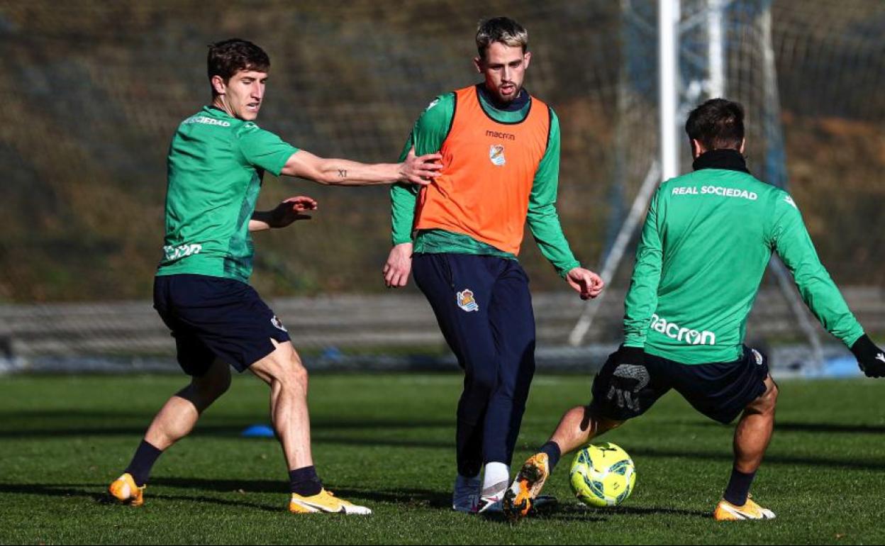
[[[312,377],[313,453],[336,494],[368,518],[286,511],[281,450],[239,433],[267,422],[267,388],[237,377],[196,431],[160,458],[133,509],[104,500],[175,376],[0,378],[0,543],[882,543],[885,382],[783,381],[778,425],[753,493],[778,519],[710,518],[731,468],[732,427],[665,396],[604,436],[630,453],[633,496],[576,504],[564,460],[546,493],[558,509],[511,527],[450,511],[457,374]],[[535,378],[517,464],[589,378]]]

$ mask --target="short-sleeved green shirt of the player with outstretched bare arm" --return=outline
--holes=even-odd
[[[165,241],[158,275],[194,273],[249,282],[255,211],[265,171],[279,176],[298,151],[218,108],[181,122],[169,146]]]

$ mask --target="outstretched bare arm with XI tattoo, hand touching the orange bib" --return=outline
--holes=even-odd
[[[369,186],[389,184],[392,182],[408,182],[412,184],[429,184],[442,165],[438,153],[416,156],[410,150],[402,163],[366,164],[349,159],[319,158],[309,151],[298,150],[283,166],[281,174],[297,176],[320,184],[334,186]]]

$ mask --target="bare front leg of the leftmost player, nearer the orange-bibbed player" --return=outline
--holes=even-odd
[[[289,470],[312,466],[311,421],[307,411],[307,370],[291,342],[250,366],[271,388],[271,420]]]

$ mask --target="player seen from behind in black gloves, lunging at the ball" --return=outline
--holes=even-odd
[[[671,388],[723,424],[743,412],[731,478],[713,517],[774,517],[749,491],[771,440],[778,388],[766,357],[743,345],[772,252],[861,370],[885,376],[885,353],[820,264],[793,198],[747,170],[741,105],[707,101],[689,114],[685,129],[695,171],[664,182],[651,200],[627,293],[624,343],[596,375],[592,402],[566,411],[550,441],[523,465],[504,500],[512,519],[527,514],[563,453],[642,415]]]

